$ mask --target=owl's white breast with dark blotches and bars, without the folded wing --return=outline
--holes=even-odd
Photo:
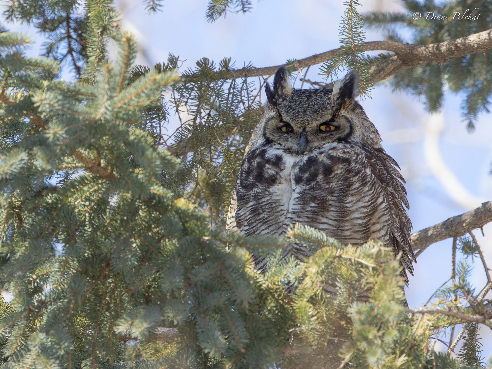
[[[378,212],[382,199],[363,164],[362,151],[343,145],[301,157],[276,147],[253,149],[241,167],[228,228],[281,234],[299,222],[347,244],[381,240],[387,233]]]

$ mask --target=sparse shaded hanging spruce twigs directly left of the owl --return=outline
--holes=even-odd
[[[176,62],[171,56],[169,63]],[[256,79],[213,78],[214,72],[220,75],[233,67],[230,58],[218,66],[201,59],[184,71],[183,83],[169,99],[181,127],[164,145],[182,160],[177,183],[185,197],[210,214],[211,224],[225,221],[244,150],[261,114]]]

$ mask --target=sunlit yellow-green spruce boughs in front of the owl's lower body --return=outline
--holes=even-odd
[[[441,329],[457,319],[405,311],[400,264],[390,250],[374,242],[342,246],[301,225],[291,228],[287,238],[316,252],[306,263],[289,259],[269,263],[267,280],[289,282],[296,319],[290,350],[279,367],[476,368],[477,362],[433,350],[431,338],[438,338]],[[330,292],[327,285],[336,286],[337,292]],[[361,297],[368,295],[369,301],[362,302]],[[428,308],[436,307],[464,304],[439,298]],[[463,347],[477,358],[476,328],[475,336],[469,337],[469,348]]]

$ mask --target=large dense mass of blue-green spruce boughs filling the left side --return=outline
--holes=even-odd
[[[100,64],[93,85],[47,79],[42,71],[56,72],[56,62],[2,53],[1,130],[14,138],[0,167],[0,275],[13,295],[1,321],[4,357],[19,368],[115,366],[126,363],[120,337],[145,347],[167,322],[183,339],[156,358],[162,365],[271,363],[286,319],[265,311],[278,302],[238,245],[259,240],[211,230],[165,185],[178,160],[142,124],[178,77],[132,75],[136,44],[122,35],[119,47],[120,60]]]

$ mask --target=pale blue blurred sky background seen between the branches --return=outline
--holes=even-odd
[[[362,0],[362,4],[361,13],[400,10],[398,2],[393,0]],[[152,66],[166,61],[168,54],[173,53],[183,61],[182,71],[202,57],[217,63],[231,57],[238,68],[248,62],[262,67],[337,48],[338,22],[344,9],[340,0],[262,0],[254,2],[249,13],[230,13],[225,19],[207,23],[205,0],[167,0],[155,14],[146,13],[140,0],[117,0],[116,5],[122,17],[121,28],[131,31],[139,40],[137,63]],[[39,54],[43,37],[35,34],[34,29],[21,24],[5,26],[10,31],[35,35],[30,53]],[[368,30],[366,37],[367,41],[375,41],[384,36]],[[68,67],[65,69],[62,78],[72,79]],[[307,78],[323,81],[314,66],[309,69]],[[295,87],[301,87],[299,78]],[[308,87],[305,83],[304,88]],[[362,105],[379,129],[386,151],[400,164],[407,181],[414,231],[492,200],[490,114],[482,114],[475,131],[468,133],[461,119],[461,98],[451,92],[445,94],[442,111],[433,115],[427,113],[414,96],[393,92],[383,84],[372,90],[371,97],[362,101]],[[176,129],[177,123],[177,119],[170,117],[166,123],[169,133]],[[485,237],[480,230],[474,233],[488,265],[492,266],[492,224],[484,227]],[[419,256],[415,276],[410,277],[405,291],[410,307],[425,304],[450,277],[451,249],[449,239],[430,246]],[[479,260],[474,264],[470,281],[477,290],[485,285],[486,277]],[[490,293],[487,298],[491,298]],[[480,335],[483,354],[489,358],[492,332],[482,326]],[[447,350],[441,342],[436,342],[436,348]]]

